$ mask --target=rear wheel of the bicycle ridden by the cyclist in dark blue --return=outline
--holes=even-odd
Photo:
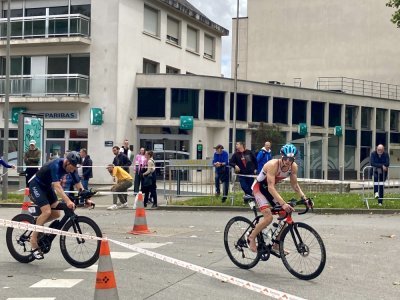
[[[12,221],[35,224],[35,219],[31,215],[19,214]],[[31,251],[32,231],[8,227],[6,232],[7,248],[11,256],[21,263],[30,263],[35,258]]]

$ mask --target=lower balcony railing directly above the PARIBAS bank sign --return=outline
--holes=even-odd
[[[5,81],[5,76],[0,76],[0,95],[5,93]],[[10,76],[10,85],[13,96],[89,95],[89,76],[81,74]]]

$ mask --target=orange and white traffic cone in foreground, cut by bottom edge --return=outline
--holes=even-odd
[[[94,299],[119,299],[110,256],[110,246],[107,240],[102,240],[100,244],[100,257],[97,267]]]

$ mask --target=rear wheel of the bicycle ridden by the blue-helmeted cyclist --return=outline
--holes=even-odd
[[[260,260],[260,253],[251,251],[247,244],[247,237],[253,228],[254,224],[242,216],[230,219],[225,226],[224,245],[226,253],[228,253],[231,261],[242,269],[251,269]]]

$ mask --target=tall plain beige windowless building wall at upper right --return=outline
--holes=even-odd
[[[400,31],[385,3],[248,1],[248,17],[240,19],[238,78],[307,88],[317,88],[319,77],[399,85]]]

